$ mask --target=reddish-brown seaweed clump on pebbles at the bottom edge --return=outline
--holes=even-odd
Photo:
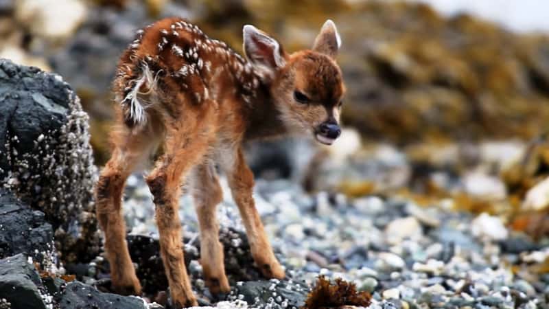
[[[353,283],[336,279],[331,284],[329,279],[318,276],[316,286],[307,295],[305,309],[342,308],[344,306],[370,306],[371,295],[368,292],[358,292]]]

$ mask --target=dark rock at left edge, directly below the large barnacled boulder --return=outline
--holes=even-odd
[[[0,187],[0,258],[27,253],[43,262],[53,251],[54,231],[44,213]]]

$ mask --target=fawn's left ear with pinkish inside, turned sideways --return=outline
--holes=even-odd
[[[285,53],[282,46],[265,32],[253,25],[244,25],[244,52],[254,65],[268,69],[277,69],[285,65]]]

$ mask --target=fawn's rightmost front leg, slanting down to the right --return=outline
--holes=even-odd
[[[253,173],[246,165],[242,150],[237,150],[235,162],[228,171],[229,186],[235,203],[240,211],[242,222],[246,228],[246,235],[250,243],[253,259],[261,269],[261,273],[268,278],[282,279],[284,270],[277,258],[274,257],[269,240],[265,233],[261,218],[255,209],[253,200]]]

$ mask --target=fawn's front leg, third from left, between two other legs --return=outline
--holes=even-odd
[[[223,199],[223,192],[211,160],[196,167],[193,177],[193,198],[200,227],[200,264],[211,293],[231,290],[223,264],[223,246],[219,241],[219,224],[215,208]]]

